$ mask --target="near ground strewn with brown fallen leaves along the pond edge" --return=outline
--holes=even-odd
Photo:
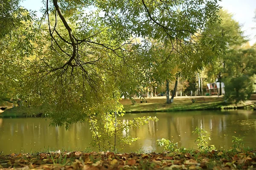
[[[183,153],[83,153],[60,152],[26,154],[12,153],[0,156],[0,169],[58,169],[58,170],[104,170],[104,169],[256,169],[256,150]]]

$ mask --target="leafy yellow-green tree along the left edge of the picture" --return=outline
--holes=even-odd
[[[24,59],[33,54],[35,14],[18,4],[19,0],[0,0],[0,103],[18,98]]]

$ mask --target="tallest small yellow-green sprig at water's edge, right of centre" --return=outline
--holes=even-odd
[[[194,131],[192,131],[194,134],[198,134],[198,138],[195,140],[195,142],[198,142],[197,146],[201,150],[215,150],[214,145],[208,146],[209,141],[211,140],[210,136],[207,134],[207,131],[203,128],[196,127]]]

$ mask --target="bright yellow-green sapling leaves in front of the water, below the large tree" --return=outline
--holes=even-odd
[[[122,122],[117,116],[122,117],[123,115],[122,105],[120,105],[119,111],[109,112],[101,116],[101,121],[99,123],[103,126],[100,126],[98,120],[95,119],[98,116],[90,116],[88,121],[90,122],[91,131],[93,133],[93,147],[98,147],[100,151],[116,151],[116,147],[122,149],[125,147],[125,144],[131,144],[131,142],[137,141],[138,139],[131,138],[128,133],[124,136],[124,131],[127,132],[129,128],[139,128],[142,125],[147,124],[148,121],[158,121],[156,117],[143,116]]]

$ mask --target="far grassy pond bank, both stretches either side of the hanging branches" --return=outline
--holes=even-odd
[[[192,103],[195,99],[195,103]],[[140,99],[135,99],[136,104],[132,105],[131,100],[122,99],[126,113],[145,113],[145,112],[172,112],[172,111],[202,111],[202,110],[222,110],[222,109],[253,109],[256,107],[256,101],[246,101],[239,104],[229,104],[224,102],[223,97],[197,96],[182,97],[174,99],[174,103],[166,104],[163,97],[153,97],[147,99],[147,103],[140,103]],[[29,114],[28,114],[29,113]],[[8,108],[0,113],[0,118],[18,118],[18,117],[41,117],[44,110],[41,108]]]

